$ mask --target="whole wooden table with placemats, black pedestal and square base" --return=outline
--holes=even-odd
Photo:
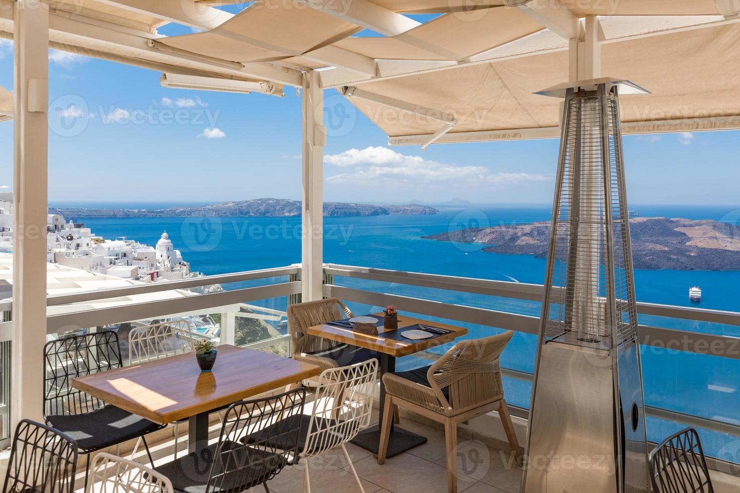
[[[383,320],[383,313],[374,313],[372,316]],[[437,347],[441,344],[454,341],[454,339],[457,339],[460,336],[465,336],[468,333],[468,329],[463,327],[455,327],[454,325],[440,324],[437,322],[428,322],[426,320],[414,319],[410,316],[398,317],[397,330],[403,330],[404,327],[409,327],[415,324],[440,327],[451,330],[451,333],[444,336],[433,337],[431,339],[413,341],[408,339],[397,341],[395,339],[386,339],[383,337],[383,333],[386,333],[386,329],[383,327],[378,327],[377,336],[369,336],[367,334],[354,332],[354,330],[349,328],[326,324],[314,325],[313,327],[308,328],[308,333],[312,336],[343,342],[353,346],[365,347],[366,349],[380,353],[380,421],[379,424],[360,432],[360,434],[352,440],[352,443],[355,445],[361,446],[363,449],[369,450],[376,455],[380,448],[380,423],[383,423],[383,402],[386,399],[386,386],[383,384],[383,375],[396,370],[396,358],[399,356],[408,356],[418,353],[419,351],[428,350],[431,347]],[[391,424],[391,436],[388,441],[388,453],[386,457],[393,457],[401,452],[406,452],[406,450],[417,445],[421,445],[422,443],[425,443],[425,441],[425,437],[417,435],[416,433],[408,432],[405,429],[400,429]]]

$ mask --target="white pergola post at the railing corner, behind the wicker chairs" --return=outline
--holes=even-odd
[[[318,72],[303,74],[303,302],[323,297],[323,89]]]

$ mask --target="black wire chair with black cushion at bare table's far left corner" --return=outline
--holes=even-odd
[[[166,425],[106,404],[71,386],[73,378],[123,366],[118,334],[110,330],[68,336],[44,345],[44,420],[73,438],[83,454],[91,454]],[[88,461],[89,462],[89,461]],[[90,468],[85,469],[85,488]]]

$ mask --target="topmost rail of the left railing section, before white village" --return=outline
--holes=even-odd
[[[264,279],[266,277],[289,276],[297,273],[300,268],[295,266],[260,269],[258,271],[235,272],[218,274],[215,276],[200,276],[180,281],[149,282],[142,285],[132,285],[125,288],[113,288],[104,290],[92,290],[84,293],[61,294],[47,297],[47,306],[67,305],[69,303],[89,302],[97,299],[116,298],[118,296],[130,296],[132,294],[157,293],[176,289],[197,288],[198,286],[209,286],[215,284],[226,284],[229,282],[249,281],[252,279]]]

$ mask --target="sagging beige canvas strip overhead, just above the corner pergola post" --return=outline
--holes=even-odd
[[[356,24],[286,0],[255,2],[204,33],[162,38],[170,47],[229,61],[276,61],[332,44]]]

